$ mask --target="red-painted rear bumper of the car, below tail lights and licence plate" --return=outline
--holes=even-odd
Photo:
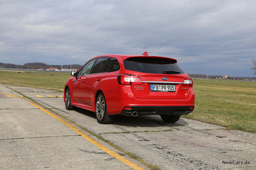
[[[195,93],[191,87],[185,99],[142,99],[134,97],[130,85],[120,85],[111,91],[104,91],[108,114],[128,114],[125,107],[141,110],[141,115],[150,114],[185,114],[195,106]],[[150,108],[150,109],[149,109]],[[131,110],[131,111],[132,111]],[[185,111],[186,110],[186,111]],[[145,111],[145,112],[143,112]],[[149,111],[149,112],[148,112]]]

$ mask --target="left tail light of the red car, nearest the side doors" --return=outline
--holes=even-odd
[[[117,81],[120,85],[143,85],[139,76],[131,74],[119,74],[117,75]]]

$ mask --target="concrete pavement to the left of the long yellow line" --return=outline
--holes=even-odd
[[[15,87],[12,86],[12,88]],[[26,91],[23,87],[15,89]],[[31,91],[33,89],[27,90]],[[44,90],[40,89],[39,91]],[[49,93],[48,90],[46,92]],[[57,119],[35,108],[26,100],[5,95],[20,94],[3,85],[0,85],[0,93],[4,93],[0,94],[1,170],[46,168],[49,170],[132,169],[96,147]],[[55,98],[60,103],[58,99]],[[108,146],[108,148],[122,154],[112,147]],[[125,157],[127,158],[127,156]],[[138,164],[134,160],[133,162]],[[139,166],[143,167],[140,164]]]

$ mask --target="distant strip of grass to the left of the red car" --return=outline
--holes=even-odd
[[[52,75],[53,74],[53,75]],[[44,88],[63,91],[65,82],[71,77],[70,72],[9,72],[0,71],[0,83],[32,88]]]

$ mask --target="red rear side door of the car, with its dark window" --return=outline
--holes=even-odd
[[[85,102],[86,105],[93,107],[94,95],[100,83],[102,83],[105,74],[108,71],[110,58],[99,57],[95,62],[91,74],[87,77],[87,84],[85,86]]]

